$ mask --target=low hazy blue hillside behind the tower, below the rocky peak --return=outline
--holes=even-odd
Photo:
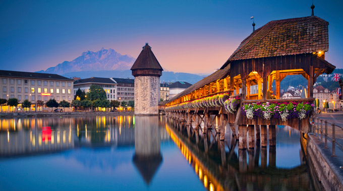
[[[79,71],[79,72],[69,72],[63,74],[65,77],[119,77],[119,78],[131,78],[131,70],[101,70],[101,71]],[[204,76],[191,74],[191,73],[182,73],[182,72],[169,72],[162,71],[162,76],[160,77],[161,82],[176,82],[176,81],[187,81],[189,83],[196,83],[201,80]]]

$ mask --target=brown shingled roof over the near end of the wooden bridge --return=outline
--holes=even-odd
[[[328,25],[316,16],[270,21],[244,39],[228,60],[328,51]]]

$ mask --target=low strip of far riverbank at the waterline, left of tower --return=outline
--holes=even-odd
[[[77,115],[133,115],[135,112],[17,112],[0,113],[0,117],[47,117],[47,116],[77,116]]]

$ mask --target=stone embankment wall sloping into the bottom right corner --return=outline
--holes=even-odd
[[[315,184],[320,185],[324,190],[343,190],[343,169],[342,160],[339,157],[331,157],[332,147],[323,148],[323,143],[314,135],[308,136],[307,153],[311,168],[316,175]],[[337,149],[336,149],[337,151]]]

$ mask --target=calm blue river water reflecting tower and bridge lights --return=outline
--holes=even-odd
[[[300,133],[238,150],[158,116],[0,119],[1,190],[314,190]]]

